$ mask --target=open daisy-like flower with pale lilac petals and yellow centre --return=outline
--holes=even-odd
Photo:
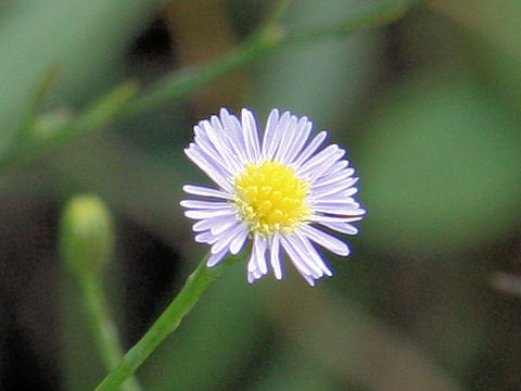
[[[185,215],[195,219],[195,241],[211,245],[207,266],[238,254],[253,241],[247,280],[272,269],[282,279],[282,250],[309,285],[332,276],[316,244],[342,256],[348,245],[328,231],[356,235],[353,222],[366,211],[353,198],[358,178],[338,144],[323,149],[320,131],[310,141],[313,124],[274,109],[260,137],[254,114],[241,119],[221,109],[220,115],[194,126],[194,140],[185,150],[218,187],[185,185],[199,199],[181,201]]]

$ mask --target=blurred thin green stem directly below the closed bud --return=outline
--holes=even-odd
[[[85,300],[87,318],[94,337],[94,343],[106,370],[114,369],[123,357],[117,328],[109,313],[109,306],[99,278],[84,274],[79,286]],[[136,378],[130,377],[122,384],[125,391],[140,391]]]

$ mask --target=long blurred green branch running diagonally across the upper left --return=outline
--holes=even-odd
[[[107,124],[142,114],[165,104],[186,99],[220,77],[272,54],[287,46],[305,43],[325,37],[345,37],[354,33],[381,27],[397,21],[411,7],[429,0],[384,1],[370,11],[350,16],[342,23],[287,33],[279,21],[290,1],[278,3],[267,22],[236,49],[205,64],[173,71],[136,97],[137,86],[127,81],[93,102],[77,117],[66,110],[43,113],[33,121],[22,122],[21,137],[0,156],[0,171],[40,156],[54,147],[76,137],[99,130]],[[47,86],[43,83],[43,86]],[[36,88],[38,91],[40,88]],[[38,97],[38,93],[36,93]],[[27,125],[30,125],[27,127]]]

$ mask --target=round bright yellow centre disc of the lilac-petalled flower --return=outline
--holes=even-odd
[[[309,185],[277,162],[250,163],[234,178],[240,217],[256,234],[292,232],[309,215]]]

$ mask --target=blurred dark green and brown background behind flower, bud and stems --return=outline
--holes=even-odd
[[[288,30],[369,0],[295,0]],[[225,54],[274,1],[3,0],[0,152],[50,67],[80,111]],[[354,254],[309,288],[226,270],[138,371],[145,390],[521,389],[521,2],[441,0],[390,26],[285,47],[218,83],[0,174],[0,389],[91,390],[104,370],[58,255],[72,195],[115,215],[105,287],[129,348],[204,255],[178,206],[182,154],[220,106],[313,118],[350,151],[368,210]]]

